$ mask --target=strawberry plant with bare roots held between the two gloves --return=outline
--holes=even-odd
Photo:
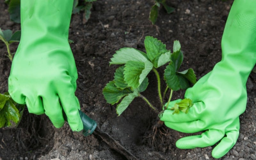
[[[158,97],[161,106],[163,106],[163,99],[168,89],[170,89],[170,97],[167,106],[172,98],[173,91],[187,89],[190,84],[196,83],[196,75],[193,69],[178,71],[183,61],[183,53],[180,50],[179,41],[174,41],[173,53],[166,49],[165,44],[152,36],[146,36],[144,44],[146,53],[134,48],[121,48],[116,51],[109,62],[110,65],[122,65],[116,69],[114,80],[110,81],[103,89],[104,98],[108,103],[111,105],[119,103],[116,107],[118,116],[123,113],[135,97],[142,98],[149,107],[159,113],[158,109],[141,94],[148,87],[147,76],[150,71],[153,71],[157,78]],[[167,86],[162,97],[160,76],[157,68],[166,63],[169,63],[164,70],[164,80]],[[175,110],[174,113],[179,113],[179,111],[187,113],[192,105],[192,100],[184,99],[180,103],[176,103],[172,109]]]

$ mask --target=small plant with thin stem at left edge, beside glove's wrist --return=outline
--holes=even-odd
[[[10,29],[7,30],[1,30],[0,28],[0,40],[4,42],[4,44],[7,47],[8,55],[7,57],[12,61],[13,54],[10,52],[10,44],[13,42],[20,42],[20,31],[16,31],[12,34],[12,31]]]

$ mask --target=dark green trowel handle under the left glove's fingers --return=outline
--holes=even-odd
[[[92,134],[92,132],[95,130],[95,128],[97,127],[97,123],[93,119],[88,117],[86,114],[84,114],[82,111],[80,110],[78,111],[84,126],[83,134],[84,136],[88,136]],[[67,116],[64,111],[63,111],[63,117],[64,117],[64,120],[68,122]]]

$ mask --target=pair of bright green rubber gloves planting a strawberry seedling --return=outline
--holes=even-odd
[[[62,110],[73,131],[83,124],[75,96],[77,71],[68,44],[73,1],[21,0],[21,40],[12,62],[9,93],[28,111],[46,114],[59,128]],[[185,98],[194,105],[188,114],[172,115],[170,103],[160,119],[180,132],[205,131],[177,141],[178,148],[212,146],[212,156],[224,156],[239,135],[239,115],[246,108],[246,81],[256,63],[256,1],[235,0],[224,29],[222,60],[202,77]]]

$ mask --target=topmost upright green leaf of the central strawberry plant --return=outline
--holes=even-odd
[[[161,54],[168,52],[168,50],[166,50],[166,45],[152,36],[145,37],[144,45],[148,58],[154,64],[154,67],[157,68],[158,59]]]

